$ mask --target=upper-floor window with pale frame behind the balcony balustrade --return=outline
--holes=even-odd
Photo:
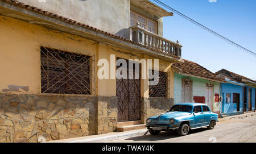
[[[146,18],[143,15],[137,14],[133,11],[130,11],[130,27],[135,26],[136,23],[139,23],[143,29],[148,30],[156,34],[156,22],[152,19]]]

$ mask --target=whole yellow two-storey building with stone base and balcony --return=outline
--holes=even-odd
[[[162,17],[171,13],[146,0],[124,0],[117,6],[125,9],[110,16],[121,11],[127,23],[102,26],[104,16],[93,24],[79,14],[55,13],[55,2],[22,2],[0,1],[0,142],[123,131],[118,126],[143,124],[173,105],[171,65],[182,60],[181,45],[162,37]],[[78,3],[93,8],[91,1]],[[98,78],[101,59],[109,61],[109,79]],[[118,59],[159,59],[159,84],[112,79]]]

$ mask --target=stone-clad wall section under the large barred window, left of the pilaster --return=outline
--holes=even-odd
[[[96,134],[97,97],[0,94],[0,142]]]

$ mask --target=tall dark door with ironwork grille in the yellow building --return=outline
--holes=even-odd
[[[127,65],[128,66],[128,65]],[[127,70],[129,70],[127,68]],[[135,69],[133,69],[135,77]],[[128,77],[129,71],[127,71]],[[118,122],[126,122],[141,119],[141,80],[117,79]]]

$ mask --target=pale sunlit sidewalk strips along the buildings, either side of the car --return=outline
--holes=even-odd
[[[224,122],[227,120],[232,119],[243,119],[248,116],[256,116],[255,112],[228,116],[225,118],[218,119],[218,122]],[[101,134],[101,135],[89,135],[83,136],[80,138],[71,138],[71,139],[63,139],[63,140],[54,140],[54,141],[47,141],[47,143],[97,143],[97,142],[108,142],[113,140],[120,140],[120,139],[127,139],[133,138],[136,136],[142,136],[147,132],[146,128],[141,130],[134,130],[134,131],[126,131],[126,132],[109,132],[108,134]]]

